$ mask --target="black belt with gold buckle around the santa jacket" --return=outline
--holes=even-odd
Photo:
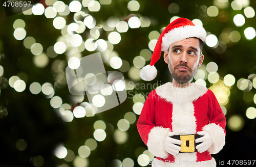
[[[197,138],[202,137],[199,134],[173,135],[171,137],[181,141],[181,145],[177,145],[181,147],[179,153],[197,152],[196,146],[202,143],[195,142]]]

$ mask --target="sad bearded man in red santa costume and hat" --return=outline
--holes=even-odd
[[[152,166],[216,166],[210,154],[225,145],[226,118],[214,93],[190,83],[203,62],[205,38],[202,26],[178,18],[161,33],[150,65],[141,69],[143,80],[154,79],[162,50],[173,76],[173,82],[147,96],[137,122],[143,142],[155,156]]]

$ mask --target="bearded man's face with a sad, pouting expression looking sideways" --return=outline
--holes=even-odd
[[[200,52],[197,38],[177,41],[170,45],[168,53],[164,52],[164,61],[177,82],[186,84],[196,74],[204,58]]]

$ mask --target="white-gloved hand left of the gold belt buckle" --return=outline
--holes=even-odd
[[[169,132],[167,134],[167,136],[165,137],[165,139],[163,141],[163,149],[167,153],[172,154],[173,156],[175,156],[181,150],[181,148],[179,146],[175,145],[175,144],[181,145],[181,141],[170,137],[170,136],[173,136],[173,135],[175,135],[175,132]]]

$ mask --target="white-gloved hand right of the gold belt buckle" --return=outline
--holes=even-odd
[[[196,149],[197,149],[197,151],[200,152],[200,153],[205,152],[205,151],[208,150],[208,148],[210,148],[211,145],[212,145],[212,140],[211,140],[210,133],[207,132],[207,131],[201,131],[201,132],[197,132],[197,134],[203,135],[203,137],[197,138],[195,142],[196,142],[196,143],[203,142],[203,143],[201,143],[200,145],[198,145],[198,146],[196,147]]]

